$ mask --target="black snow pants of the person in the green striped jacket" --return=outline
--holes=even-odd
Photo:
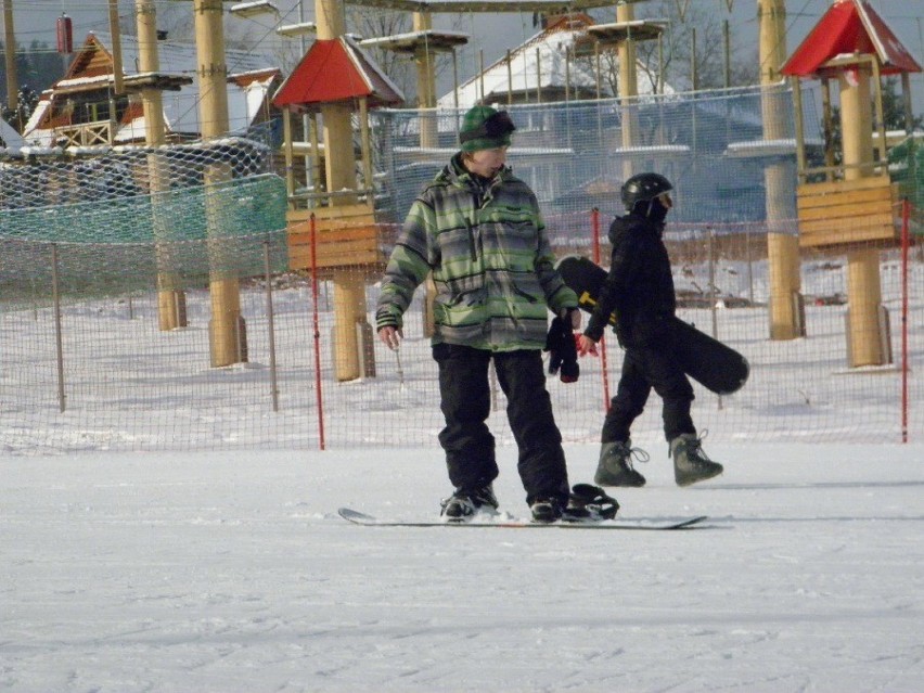
[[[446,427],[439,442],[446,451],[449,480],[455,488],[479,488],[498,476],[495,438],[486,424],[491,409],[488,364],[495,361],[506,396],[506,415],[519,450],[517,471],[526,502],[568,500],[568,473],[562,435],[546,389],[538,350],[491,352],[454,344],[438,344],[440,409]]]

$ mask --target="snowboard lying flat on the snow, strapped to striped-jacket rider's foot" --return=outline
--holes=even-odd
[[[695,517],[638,517],[628,519],[602,519],[599,522],[553,522],[538,523],[517,518],[476,518],[471,522],[449,522],[440,519],[378,519],[349,508],[341,508],[337,514],[355,525],[363,527],[453,527],[467,529],[645,529],[672,530],[705,528],[701,525],[707,519],[706,515]]]

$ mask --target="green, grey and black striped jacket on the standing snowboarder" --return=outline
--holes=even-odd
[[[541,349],[547,309],[577,307],[554,259],[529,187],[504,167],[483,189],[457,154],[408,213],[385,269],[376,329],[402,325],[433,270],[433,344]]]

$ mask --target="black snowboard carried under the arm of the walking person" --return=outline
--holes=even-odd
[[[562,258],[557,269],[565,284],[578,295],[578,305],[587,312],[593,312],[596,296],[606,280],[606,270],[578,255]],[[747,359],[680,318],[675,317],[675,321],[677,359],[683,371],[716,395],[731,395],[741,389],[750,374]],[[609,324],[616,324],[615,315],[609,316]]]

